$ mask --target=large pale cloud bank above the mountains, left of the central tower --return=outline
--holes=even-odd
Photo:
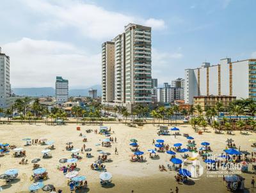
[[[29,38],[2,48],[10,56],[12,88],[54,87],[57,75],[68,79],[73,88],[100,83],[100,54],[86,53],[68,43]]]

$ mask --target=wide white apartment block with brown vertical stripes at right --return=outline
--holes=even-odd
[[[236,96],[256,100],[256,59],[232,62],[221,59],[218,65],[203,63],[185,70],[185,103],[194,96]]]

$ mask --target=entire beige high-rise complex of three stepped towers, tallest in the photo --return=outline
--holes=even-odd
[[[102,44],[102,102],[151,102],[151,27],[128,24]]]

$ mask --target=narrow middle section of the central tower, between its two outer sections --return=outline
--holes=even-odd
[[[115,102],[125,103],[125,33],[116,36],[115,42]]]

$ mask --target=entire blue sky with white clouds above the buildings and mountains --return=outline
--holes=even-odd
[[[70,88],[101,82],[100,47],[129,22],[152,26],[152,77],[170,82],[185,68],[256,58],[256,1],[1,0],[0,46],[13,88]]]

